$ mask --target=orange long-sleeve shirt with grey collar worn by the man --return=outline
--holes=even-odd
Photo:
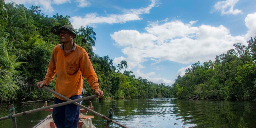
[[[74,42],[73,49],[68,53],[63,50],[63,44],[55,46],[43,82],[48,85],[55,72],[57,75],[55,91],[67,98],[81,94],[83,88],[82,74],[94,92],[100,90],[98,78],[86,50]],[[57,95],[55,97],[65,100]]]

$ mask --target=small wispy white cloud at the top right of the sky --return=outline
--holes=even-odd
[[[214,5],[214,9],[217,10],[217,11],[221,11],[221,15],[225,15],[225,14],[233,14],[233,15],[242,14],[242,10],[234,9],[234,6],[235,6],[235,4],[238,1],[239,0],[218,1]]]

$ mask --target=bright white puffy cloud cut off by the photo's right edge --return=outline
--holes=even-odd
[[[255,37],[256,32],[256,12],[248,14],[244,19],[245,25],[248,28],[245,38],[249,40],[251,37]]]

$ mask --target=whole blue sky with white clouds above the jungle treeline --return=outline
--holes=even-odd
[[[8,2],[8,1],[6,1]],[[192,63],[214,60],[256,34],[255,0],[13,0],[93,27],[94,52],[136,77],[171,85]],[[123,72],[123,71],[122,71]]]

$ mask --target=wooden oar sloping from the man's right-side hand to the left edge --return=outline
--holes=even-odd
[[[91,95],[89,97],[83,97],[83,98],[80,98],[80,99],[69,100],[67,102],[58,103],[58,104],[54,104],[54,105],[50,105],[50,106],[46,106],[46,107],[42,107],[42,108],[38,108],[38,109],[29,110],[29,111],[26,111],[26,112],[21,112],[21,113],[13,114],[12,117],[14,118],[14,117],[30,114],[30,113],[33,113],[33,112],[39,112],[39,111],[42,111],[42,110],[45,110],[45,109],[56,108],[56,107],[59,107],[59,106],[71,104],[71,103],[82,101],[82,100],[89,100],[89,99],[92,99],[92,98],[95,98],[95,97],[98,97],[98,95],[95,94],[95,95]],[[5,119],[8,119],[8,116],[1,117],[0,121],[1,120],[5,120]]]

